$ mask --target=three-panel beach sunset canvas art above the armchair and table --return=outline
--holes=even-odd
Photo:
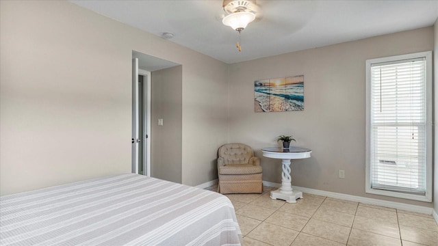
[[[304,110],[304,75],[254,81],[254,111]]]

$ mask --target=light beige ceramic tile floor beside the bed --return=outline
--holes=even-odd
[[[432,215],[306,193],[289,204],[272,200],[272,189],[227,195],[244,245],[438,245]]]

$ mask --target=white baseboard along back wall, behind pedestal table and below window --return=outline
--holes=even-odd
[[[281,184],[279,184],[279,183],[268,182],[268,181],[263,181],[263,185],[266,185],[268,187],[276,187],[276,188],[281,187]],[[437,223],[438,223],[438,215],[437,215],[436,211],[433,210],[433,208],[428,208],[425,206],[404,204],[401,202],[389,202],[389,201],[378,200],[378,199],[374,199],[374,198],[360,197],[357,195],[346,195],[346,194],[342,194],[342,193],[335,193],[335,192],[331,192],[331,191],[321,191],[321,190],[309,189],[309,188],[305,188],[305,187],[292,186],[292,189],[297,189],[298,191],[302,191],[302,192],[313,194],[313,195],[322,195],[325,197],[333,197],[333,198],[348,200],[348,201],[352,201],[352,202],[362,202],[365,204],[373,204],[373,205],[377,205],[377,206],[385,206],[388,208],[397,208],[397,209],[402,209],[402,210],[407,210],[407,211],[412,211],[412,212],[417,212],[417,213],[424,213],[427,215],[433,215],[433,217],[435,218],[435,221],[437,221]]]

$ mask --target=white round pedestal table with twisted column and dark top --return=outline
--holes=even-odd
[[[271,191],[270,197],[272,199],[281,199],[289,203],[296,203],[298,198],[302,198],[301,191],[294,191],[292,189],[292,178],[290,177],[290,163],[291,160],[305,159],[310,157],[311,150],[307,148],[281,148],[281,147],[268,147],[262,148],[263,156],[273,159],[282,159],[281,172],[281,187],[276,191]]]

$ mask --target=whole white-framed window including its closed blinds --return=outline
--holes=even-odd
[[[432,201],[432,52],[366,61],[366,192]]]

